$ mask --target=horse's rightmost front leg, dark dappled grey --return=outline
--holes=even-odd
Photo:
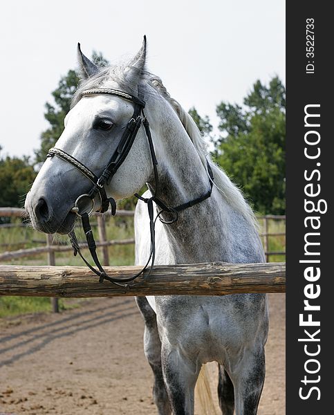
[[[231,374],[236,415],[256,415],[266,373],[264,348],[244,353],[237,367]]]

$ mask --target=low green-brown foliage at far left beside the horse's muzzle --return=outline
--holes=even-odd
[[[28,157],[0,158],[0,206],[21,208],[24,196],[35,176]]]

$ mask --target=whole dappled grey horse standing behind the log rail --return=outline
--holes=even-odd
[[[146,71],[146,39],[131,62],[120,66],[98,68],[80,48],[78,55],[82,82],[55,145],[58,153],[51,151],[26,198],[35,228],[67,234],[83,205],[88,211],[102,210],[103,198],[132,196],[146,183],[149,190],[135,214],[136,264],[145,265],[151,252],[152,221],[145,205],[151,195],[161,219],[156,221],[156,264],[262,262],[256,221],[241,192],[205,154],[192,118],[160,78]],[[102,177],[111,154],[120,148],[134,108],[136,112],[136,97],[146,103],[152,141],[139,123],[117,171],[100,183],[103,196],[95,178]],[[90,193],[92,183],[96,189]],[[82,198],[87,194],[94,205]],[[154,372],[159,414],[194,414],[198,374],[212,361],[219,363],[223,414],[233,414],[234,406],[237,415],[257,413],[265,376],[266,295],[165,295],[136,302],[145,320],[145,355]]]

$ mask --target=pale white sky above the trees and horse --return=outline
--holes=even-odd
[[[0,8],[1,154],[33,155],[44,104],[85,55],[131,57],[147,35],[148,64],[185,109],[217,124],[216,105],[252,84],[285,83],[284,0],[16,0]]]

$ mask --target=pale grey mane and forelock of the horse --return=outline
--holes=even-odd
[[[124,65],[101,68],[98,73],[92,77],[89,77],[88,80],[83,81],[73,96],[71,107],[74,107],[75,104],[77,104],[77,102],[81,99],[82,91],[86,89],[100,88],[102,86],[107,88],[108,82],[110,81],[117,82],[122,91],[138,95],[138,86],[135,87],[129,84],[125,78],[125,67],[126,66]],[[145,71],[143,78],[161,97],[165,98],[165,100],[167,100],[167,102],[171,105],[171,108],[174,109],[180,119],[180,122],[183,124],[185,131],[187,131],[190,140],[192,140],[205,170],[207,170],[207,162],[210,163],[210,167],[212,168],[214,175],[214,186],[219,190],[224,199],[229,205],[232,206],[232,208],[239,212],[245,220],[250,223],[250,225],[252,225],[255,229],[258,229],[259,223],[254,215],[254,212],[250,208],[250,205],[248,205],[245,201],[241,190],[234,183],[232,183],[223,169],[212,161],[210,154],[207,152],[207,145],[201,135],[201,131],[199,131],[196,123],[189,113],[187,113],[187,111],[185,111],[185,109],[183,109],[183,107],[176,100],[174,100],[174,98],[171,98],[171,95],[168,93],[160,77]],[[149,91],[147,91],[147,93],[149,93]]]

